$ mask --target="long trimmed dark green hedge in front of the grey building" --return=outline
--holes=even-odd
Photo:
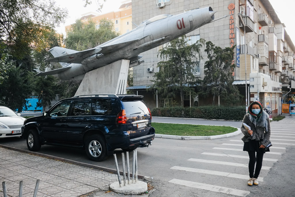
[[[224,119],[243,120],[246,114],[245,106],[223,107],[223,106],[202,106],[202,107],[169,107],[154,108],[152,116],[175,117],[175,118],[203,118],[203,119]]]

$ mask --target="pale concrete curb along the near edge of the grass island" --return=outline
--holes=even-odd
[[[233,127],[237,128],[237,127]],[[163,134],[155,134],[155,137],[157,138],[168,138],[168,139],[182,139],[182,140],[188,140],[188,139],[217,139],[217,138],[224,138],[224,137],[231,137],[236,136],[238,134],[242,133],[240,128],[237,128],[237,131],[217,136],[173,136],[173,135],[163,135]]]

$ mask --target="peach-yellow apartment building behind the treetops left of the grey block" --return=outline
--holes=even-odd
[[[83,14],[80,18],[82,22],[87,22],[92,19],[96,23],[96,28],[99,28],[99,21],[101,19],[111,20],[114,23],[114,30],[120,32],[121,35],[132,30],[132,2],[131,0],[122,1],[121,6],[117,11],[108,12],[104,14],[97,14],[96,12],[88,12]],[[71,25],[65,26],[65,32],[71,29]]]

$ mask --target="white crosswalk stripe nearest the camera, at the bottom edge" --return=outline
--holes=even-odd
[[[209,184],[197,183],[197,182],[180,180],[180,179],[171,179],[168,181],[168,183],[174,183],[177,185],[183,185],[183,186],[187,186],[191,188],[203,189],[203,190],[214,191],[219,193],[226,193],[226,194],[231,194],[235,196],[247,196],[250,194],[250,191],[226,188],[226,187],[221,187],[217,185],[209,185]]]

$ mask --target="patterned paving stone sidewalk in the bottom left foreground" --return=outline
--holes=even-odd
[[[117,181],[116,174],[56,161],[45,157],[0,147],[0,196],[6,182],[9,196],[19,196],[23,181],[23,197],[33,196],[40,179],[37,196],[81,196]]]

